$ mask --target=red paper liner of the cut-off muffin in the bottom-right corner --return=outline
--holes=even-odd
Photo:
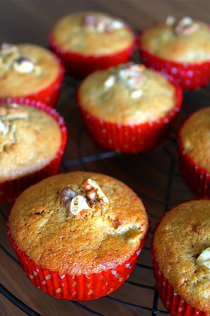
[[[153,229],[154,233],[159,224],[160,222],[156,223],[156,227]],[[154,258],[153,238],[151,241],[151,255],[153,273],[156,280],[156,290],[167,311],[173,316],[207,316],[206,313],[190,306],[179,294],[174,292],[173,286],[163,276],[160,271],[159,264]]]

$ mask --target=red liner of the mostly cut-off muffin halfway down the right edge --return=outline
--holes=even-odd
[[[179,153],[179,168],[185,183],[198,196],[202,198],[210,197],[210,175],[207,170],[199,167],[195,161],[187,154],[184,149],[180,131],[186,119],[182,122],[178,131],[178,153]]]

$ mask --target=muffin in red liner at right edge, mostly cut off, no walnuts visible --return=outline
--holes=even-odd
[[[198,197],[210,191],[210,116],[209,108],[191,114],[178,131],[180,171],[186,184]]]

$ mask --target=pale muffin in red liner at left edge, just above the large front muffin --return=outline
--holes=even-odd
[[[12,202],[30,185],[58,173],[66,142],[65,123],[54,109],[1,99],[0,202]]]

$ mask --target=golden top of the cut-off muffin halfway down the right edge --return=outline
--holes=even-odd
[[[210,112],[209,108],[196,111],[180,130],[181,143],[187,154],[202,169],[210,172]]]

